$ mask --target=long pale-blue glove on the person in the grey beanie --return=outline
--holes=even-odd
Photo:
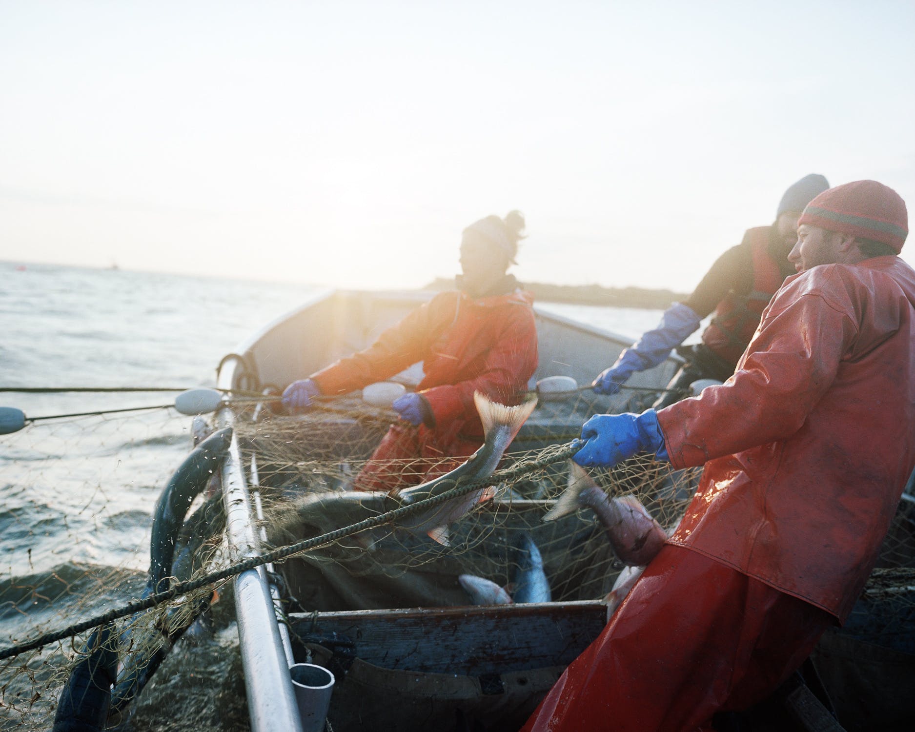
[[[645,333],[619,354],[616,363],[600,372],[591,384],[594,391],[598,394],[619,392],[620,384],[625,383],[633,373],[651,369],[670,356],[673,347],[683,343],[699,327],[700,321],[692,307],[673,303],[664,310],[657,328]]]

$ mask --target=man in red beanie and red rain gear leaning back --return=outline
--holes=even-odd
[[[575,460],[705,464],[684,520],[525,730],[711,729],[847,617],[915,467],[905,203],[873,180],[803,211],[786,280],[727,382],[600,414]]]

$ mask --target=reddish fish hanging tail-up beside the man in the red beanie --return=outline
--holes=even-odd
[[[544,521],[554,521],[579,508],[589,508],[607,533],[613,551],[624,565],[645,566],[667,541],[662,525],[644,506],[627,495],[610,499],[585,468],[572,462],[569,484]]]

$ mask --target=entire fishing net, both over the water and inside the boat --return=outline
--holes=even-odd
[[[637,410],[655,396],[633,393],[626,408]],[[501,458],[491,481],[494,495],[451,526],[447,545],[425,532],[383,522],[277,562],[274,580],[285,611],[468,605],[471,597],[458,582],[465,574],[511,594],[523,537],[530,537],[543,556],[554,602],[602,599],[624,567],[596,514],[582,509],[544,522],[569,481],[563,458],[567,443],[598,411],[600,403],[590,393],[539,405]],[[264,551],[397,508],[394,496],[353,490],[394,421],[393,412],[363,404],[357,395],[297,416],[277,416],[263,405],[238,409],[234,433],[249,489],[256,489],[263,509],[258,528],[264,532]],[[124,608],[148,594],[153,506],[187,456],[191,432],[188,417],[159,410],[36,423],[0,437],[6,496],[2,529],[5,537],[16,537],[5,554],[0,585],[4,647]],[[386,461],[381,468],[418,482],[455,464],[447,457],[404,459]],[[638,456],[590,474],[608,496],[634,496],[670,529],[683,514],[699,470],[673,470]],[[859,631],[869,633],[868,642],[904,643],[904,631],[901,640],[889,636],[915,621],[913,578],[910,570],[898,569],[915,564],[913,515],[912,501],[904,500],[881,554],[880,565],[887,568],[878,569],[868,585],[862,602],[870,604],[856,608],[865,619],[870,611],[888,618],[883,630],[862,620]],[[57,541],[44,528],[51,525]],[[216,479],[189,507],[174,554],[175,581],[205,578],[237,561],[223,527]],[[0,661],[0,728],[50,727],[61,689],[87,660],[103,658],[101,646],[120,659],[118,684],[123,686],[125,678],[134,684],[133,691],[115,687],[121,713],[110,721],[120,722],[119,729],[243,728],[228,595],[231,583],[210,582],[101,629]],[[185,699],[188,708],[167,702],[175,698]]]

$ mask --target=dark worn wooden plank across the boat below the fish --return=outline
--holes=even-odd
[[[600,601],[295,613],[305,637],[337,633],[365,662],[421,673],[505,673],[566,665],[607,624]]]

